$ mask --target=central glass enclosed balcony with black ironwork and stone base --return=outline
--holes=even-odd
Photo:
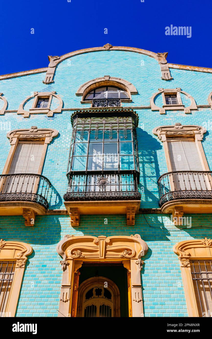
[[[133,206],[138,211],[137,114],[130,109],[101,109],[76,112],[72,119],[69,182],[64,195],[67,209],[77,206],[80,213],[124,214],[126,207]],[[101,201],[104,204],[99,209]],[[84,210],[80,202],[84,202]],[[85,208],[85,202],[92,205]]]

